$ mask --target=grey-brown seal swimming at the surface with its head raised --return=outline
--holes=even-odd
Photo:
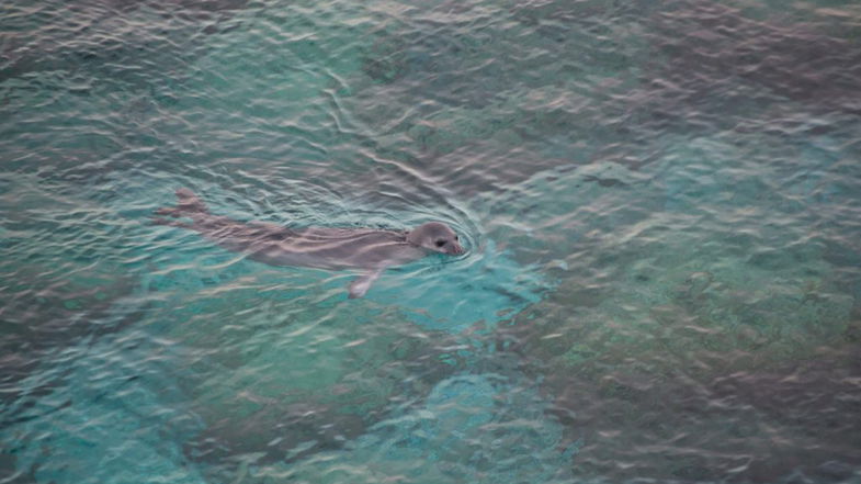
[[[209,213],[191,190],[177,190],[175,206],[158,209],[152,220],[160,225],[199,232],[219,246],[248,254],[270,266],[317,269],[360,269],[350,283],[350,297],[361,297],[386,268],[430,254],[461,255],[464,248],[454,230],[441,222],[429,222],[412,230],[372,228],[288,228],[265,222],[239,222]],[[188,218],[191,223],[165,218]]]

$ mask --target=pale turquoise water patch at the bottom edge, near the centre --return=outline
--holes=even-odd
[[[302,461],[248,459],[220,480],[243,483],[566,482],[578,443],[544,418],[531,384],[498,374],[458,373],[440,381],[420,405],[395,409],[343,449]]]

